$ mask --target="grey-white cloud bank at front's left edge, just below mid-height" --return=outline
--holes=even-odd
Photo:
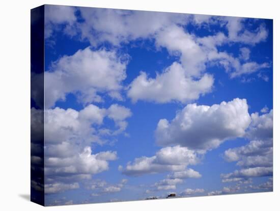
[[[95,105],[89,105],[80,112],[58,107],[48,109],[45,111],[45,141],[47,144],[100,142],[92,124],[101,123],[104,116],[104,110]]]

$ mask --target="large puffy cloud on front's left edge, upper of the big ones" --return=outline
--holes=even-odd
[[[45,72],[45,107],[51,108],[68,93],[87,104],[102,101],[98,93],[121,98],[122,81],[126,78],[127,56],[119,57],[114,50],[80,49],[63,56]]]

